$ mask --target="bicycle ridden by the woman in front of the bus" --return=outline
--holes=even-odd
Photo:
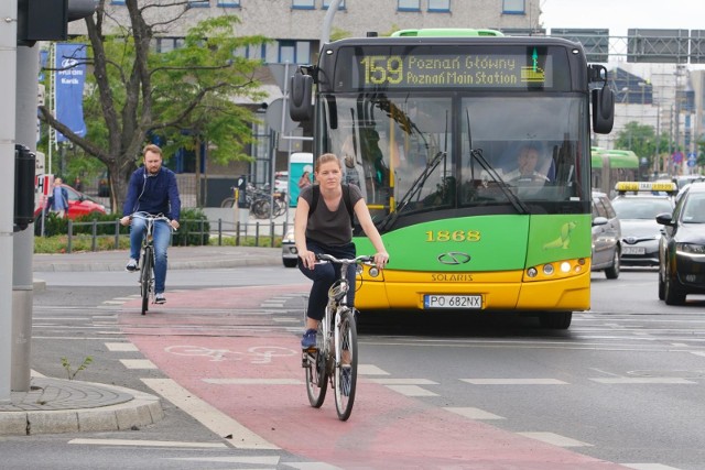
[[[323,320],[318,324],[316,346],[303,351],[302,367],[306,370],[306,393],[311,406],[319,408],[330,383],[335,391],[338,419],[347,420],[355,403],[358,361],[356,310],[347,304],[347,293],[350,288],[347,267],[350,264],[367,264],[373,270],[377,267],[373,263],[375,256],[369,255],[339,260],[329,254],[316,254],[316,260],[340,264],[340,277],[328,289],[328,305]],[[304,321],[305,319],[306,311]]]

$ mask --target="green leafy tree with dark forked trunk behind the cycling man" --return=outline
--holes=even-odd
[[[44,121],[107,166],[113,210],[122,206],[143,145],[156,135],[171,140],[172,147],[207,138],[214,149],[210,155],[220,162],[247,159],[243,149],[254,116],[232,100],[260,98],[261,63],[238,52],[263,44],[265,37],[238,37],[239,19],[223,15],[191,29],[184,47],[159,54],[152,48],[154,37],[183,21],[189,2],[142,3],[148,4],[126,0],[127,24],[108,15],[106,0],[99,0],[96,14],[85,20],[93,68],[84,103],[86,136],[76,135],[48,108],[40,107]]]

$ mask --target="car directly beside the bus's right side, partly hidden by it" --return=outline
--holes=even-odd
[[[605,193],[593,192],[593,271],[605,271],[608,280],[619,277],[621,226]]]

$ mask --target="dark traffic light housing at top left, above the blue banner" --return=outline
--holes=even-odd
[[[18,45],[23,46],[33,46],[36,41],[66,41],[68,22],[96,11],[96,0],[17,1]]]

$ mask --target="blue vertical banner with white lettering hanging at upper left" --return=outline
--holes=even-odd
[[[84,122],[84,84],[86,83],[86,44],[56,44],[54,99],[56,119],[82,138]],[[67,139],[56,132],[56,141]]]

